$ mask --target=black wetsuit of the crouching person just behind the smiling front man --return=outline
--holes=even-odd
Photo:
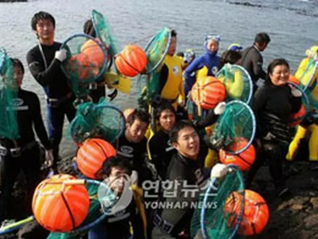
[[[171,157],[176,153],[176,150],[171,145],[169,134],[163,130],[159,130],[151,137],[148,145],[151,161],[155,164],[161,179],[165,179]]]

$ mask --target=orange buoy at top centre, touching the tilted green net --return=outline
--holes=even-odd
[[[115,57],[115,66],[124,76],[135,77],[142,73],[147,65],[147,55],[140,46],[130,44]]]

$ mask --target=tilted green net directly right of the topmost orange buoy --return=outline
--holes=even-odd
[[[146,74],[155,71],[164,60],[171,42],[171,30],[163,28],[148,42],[145,47],[148,63]]]

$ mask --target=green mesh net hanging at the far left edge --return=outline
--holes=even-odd
[[[19,127],[14,110],[14,100],[17,97],[17,84],[14,79],[14,69],[4,48],[0,48],[0,136],[8,139],[19,137]]]

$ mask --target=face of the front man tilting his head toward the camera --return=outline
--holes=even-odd
[[[178,133],[177,142],[173,147],[183,156],[196,159],[200,150],[200,138],[192,127],[184,127]]]

